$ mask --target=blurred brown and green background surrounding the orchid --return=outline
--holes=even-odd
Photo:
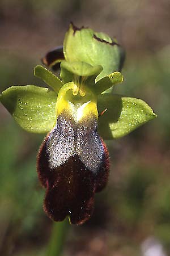
[[[108,186],[96,195],[91,220],[66,230],[61,255],[149,255],[143,243],[150,237],[164,250],[152,256],[170,255],[169,13],[168,0],[1,0],[0,91],[44,86],[33,77],[33,67],[62,45],[73,21],[117,38],[126,61],[116,93],[141,98],[158,114],[130,135],[107,142]],[[53,223],[42,210],[45,191],[36,174],[43,137],[24,132],[0,106],[0,255],[48,255]],[[57,235],[53,242],[61,244]]]

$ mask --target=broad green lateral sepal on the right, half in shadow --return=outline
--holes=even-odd
[[[141,99],[121,95],[101,94],[97,98],[99,134],[104,140],[117,139],[127,135],[156,115]]]

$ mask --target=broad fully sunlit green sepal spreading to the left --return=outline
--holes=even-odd
[[[11,86],[0,94],[3,106],[28,132],[49,132],[56,121],[57,95],[34,85]]]

